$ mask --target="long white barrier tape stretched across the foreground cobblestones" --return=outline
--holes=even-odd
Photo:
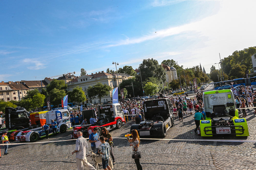
[[[113,139],[127,139],[127,138],[120,138],[120,137],[112,137]],[[86,138],[89,139],[89,138]],[[172,140],[172,141],[212,141],[212,142],[253,142],[255,143],[256,140],[235,140],[235,139],[157,139],[157,138],[140,138],[142,140]],[[70,140],[77,140],[77,139],[68,139],[68,140],[55,140],[55,141],[45,141],[45,142],[26,142],[26,143],[4,143],[0,144],[0,146],[5,145],[25,145],[25,144],[37,144],[37,143],[50,143],[50,142],[63,142],[63,141],[70,141]]]

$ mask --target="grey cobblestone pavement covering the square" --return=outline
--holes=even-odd
[[[250,136],[256,139],[255,120],[251,109],[247,112]],[[241,115],[241,114],[240,114]],[[130,131],[133,122],[128,122],[121,129],[112,130],[113,137],[124,137]],[[185,116],[179,123],[175,119],[175,126],[167,131],[166,139],[241,139],[235,136],[218,136],[202,138],[193,130],[195,122],[192,116]],[[51,140],[70,139],[71,129]],[[131,147],[126,139],[114,139],[114,155],[116,164],[114,169],[137,169],[131,158]],[[88,150],[90,150],[90,143]],[[9,154],[0,158],[0,169],[76,169],[75,155],[71,152],[75,148],[75,141],[35,143],[10,146]],[[246,142],[210,142],[210,141],[168,141],[141,140],[141,164],[143,169],[256,169],[256,144]],[[1,154],[4,149],[1,147]],[[88,160],[91,163],[91,161]],[[102,166],[100,166],[102,169]]]

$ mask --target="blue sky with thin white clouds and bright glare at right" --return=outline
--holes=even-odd
[[[0,81],[143,59],[212,65],[255,46],[255,1],[1,1]],[[36,78],[35,78],[36,76]]]

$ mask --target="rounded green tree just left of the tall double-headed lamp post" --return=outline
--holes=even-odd
[[[102,83],[97,83],[94,86],[88,87],[87,94],[88,94],[88,97],[90,98],[98,97],[101,103],[101,98],[109,95],[111,89],[112,88],[109,85],[106,85],[106,84],[103,85]]]

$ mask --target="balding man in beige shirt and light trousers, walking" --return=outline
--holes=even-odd
[[[88,169],[96,170],[86,159],[86,148],[88,148],[88,143],[82,136],[82,132],[77,132],[76,149],[72,152],[72,155],[76,153],[76,164],[78,170],[83,170],[83,166]]]

